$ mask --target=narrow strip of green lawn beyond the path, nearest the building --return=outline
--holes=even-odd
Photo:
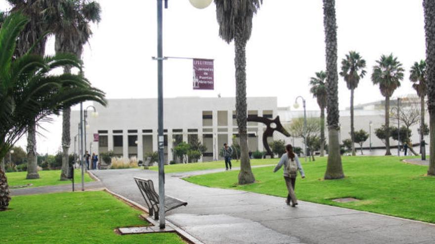
[[[268,165],[276,164],[278,159],[251,159],[251,165]],[[231,160],[232,167],[240,167],[240,161]],[[224,161],[214,161],[206,163],[189,163],[189,164],[173,164],[165,165],[165,173],[189,172],[199,170],[224,169]],[[158,171],[157,166],[150,167],[150,170]]]

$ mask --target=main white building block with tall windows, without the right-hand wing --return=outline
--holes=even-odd
[[[273,118],[277,115],[277,99],[248,98],[248,115]],[[139,160],[157,151],[157,99],[111,99],[107,107],[94,105],[98,117],[87,116],[87,150],[102,153],[112,150],[119,157],[135,156]],[[88,109],[88,114],[92,111]],[[164,99],[165,161],[174,160],[176,140],[189,142],[198,137],[207,147],[203,161],[220,159],[224,142],[231,144],[237,134],[235,98],[168,98]],[[79,111],[71,113],[71,135],[78,134]],[[265,126],[248,123],[248,144],[251,151],[263,150]],[[99,141],[94,142],[94,134]],[[260,139],[259,139],[260,138]],[[70,147],[73,153],[74,146]]]

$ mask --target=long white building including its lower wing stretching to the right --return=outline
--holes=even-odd
[[[364,142],[363,147],[385,147],[374,133],[376,128],[385,123],[383,101],[367,105],[356,105],[354,110],[354,128],[363,129],[370,133],[370,139]],[[290,107],[277,107],[275,97],[248,98],[248,116],[258,115],[267,118],[280,116],[284,127],[292,119],[303,117],[304,111],[291,110]],[[394,103],[392,102],[392,105]],[[94,105],[98,117],[87,116],[87,150],[97,154],[113,151],[115,155],[124,158],[137,157],[143,160],[147,153],[157,151],[157,99],[111,99],[107,107]],[[235,98],[168,98],[164,99],[164,138],[165,162],[174,160],[173,148],[175,141],[189,142],[198,138],[207,147],[202,161],[221,159],[218,152],[224,142],[231,144],[233,135],[237,135],[237,122],[235,119]],[[92,111],[88,109],[88,114]],[[320,111],[307,111],[307,117],[319,117]],[[325,115],[326,116],[326,115]],[[79,111],[71,113],[71,135],[78,134]],[[426,115],[429,122],[429,114]],[[370,124],[370,122],[372,122]],[[392,126],[397,121],[390,120]],[[350,138],[350,111],[340,111],[340,141]],[[413,143],[419,143],[417,134],[419,125],[412,130]],[[248,146],[250,151],[264,151],[262,135],[265,126],[256,122],[248,123]],[[93,141],[94,134],[99,135],[99,141]],[[327,137],[327,129],[325,128]],[[270,141],[272,138],[269,138]],[[303,141],[298,138],[286,138],[275,133],[273,139],[284,139],[287,143],[304,147]],[[428,139],[427,139],[428,140]],[[429,142],[429,141],[427,141]],[[396,141],[390,139],[395,146]],[[355,145],[358,148],[357,145]],[[74,145],[70,147],[73,153]],[[429,152],[429,149],[427,149]]]

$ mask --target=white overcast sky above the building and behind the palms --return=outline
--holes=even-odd
[[[84,51],[85,74],[107,98],[156,98],[156,0],[99,0],[102,20]],[[6,10],[5,0],[0,9]],[[402,86],[393,96],[414,93],[409,68],[425,58],[421,0],[336,0],[338,65],[349,50],[367,62],[367,76],[355,93],[355,105],[383,99],[370,75],[381,54],[393,53],[405,68]],[[193,8],[188,0],[169,0],[164,9],[164,56],[215,59],[215,90],[192,89],[192,61],[164,62],[164,97],[235,96],[234,46],[218,36],[216,7]],[[54,47],[48,44],[47,52]],[[247,95],[276,96],[278,106],[293,105],[302,95],[307,109],[318,109],[309,93],[314,72],[325,69],[322,0],[264,0],[254,17],[247,47]],[[350,91],[339,80],[340,109],[349,106]],[[60,146],[61,117],[45,125],[40,153]],[[25,140],[19,145],[25,146]]]

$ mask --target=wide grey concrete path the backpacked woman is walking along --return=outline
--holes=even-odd
[[[153,171],[92,173],[109,190],[142,205],[133,176],[151,178],[158,187]],[[167,219],[205,244],[435,243],[435,225],[303,201],[291,208],[284,198],[195,185],[179,178],[185,174],[193,173],[166,175],[166,194],[188,202]]]

